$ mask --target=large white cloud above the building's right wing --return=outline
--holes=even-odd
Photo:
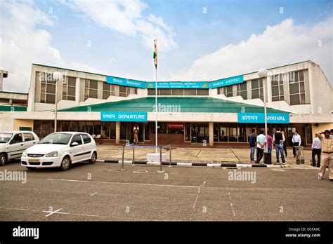
[[[320,41],[322,46],[318,46]],[[203,55],[184,72],[171,76],[175,80],[195,81],[206,74],[208,80],[214,80],[305,60],[318,63],[332,83],[333,18],[312,27],[283,20],[267,26],[262,34],[252,34],[246,41]]]

